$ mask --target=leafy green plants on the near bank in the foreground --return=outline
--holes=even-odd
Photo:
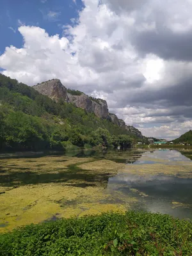
[[[129,211],[29,225],[0,236],[1,255],[191,255],[192,224]]]

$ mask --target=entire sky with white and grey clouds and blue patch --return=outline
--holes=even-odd
[[[0,72],[58,78],[145,136],[192,127],[192,0],[0,0]]]

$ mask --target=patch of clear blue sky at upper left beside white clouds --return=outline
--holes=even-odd
[[[82,8],[81,0],[0,0],[0,54],[10,45],[22,47],[23,38],[18,31],[22,24],[61,36],[62,26],[71,24]]]

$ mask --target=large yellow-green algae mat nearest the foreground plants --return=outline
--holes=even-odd
[[[20,186],[1,195],[0,231],[39,223],[53,216],[69,218],[106,211],[125,211],[133,201],[134,198],[129,198],[124,205],[122,202],[116,204],[116,200],[113,202],[104,188],[76,188],[62,184]]]

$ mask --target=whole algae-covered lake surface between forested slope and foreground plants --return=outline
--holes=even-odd
[[[0,232],[56,218],[145,210],[192,219],[192,151],[0,155]]]

